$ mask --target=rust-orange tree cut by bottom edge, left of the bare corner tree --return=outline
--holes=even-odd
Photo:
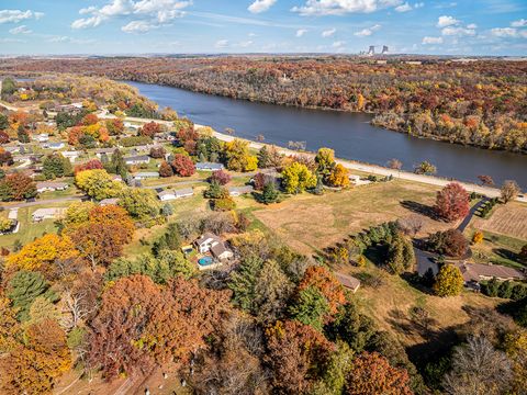
[[[390,365],[377,352],[362,352],[354,360],[349,372],[347,395],[412,395],[406,370]]]

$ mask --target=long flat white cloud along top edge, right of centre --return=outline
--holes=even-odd
[[[347,13],[369,13],[385,8],[401,5],[402,0],[306,0],[304,5],[291,11],[301,15],[344,15]]]

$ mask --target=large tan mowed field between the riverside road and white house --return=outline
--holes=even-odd
[[[379,182],[333,192],[323,196],[303,193],[269,206],[259,205],[253,215],[292,248],[311,253],[343,240],[371,225],[418,215],[425,226],[418,236],[450,226],[411,206],[431,207],[437,188],[402,180]],[[417,203],[417,204],[415,204]]]

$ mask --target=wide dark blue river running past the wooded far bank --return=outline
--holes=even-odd
[[[522,189],[527,189],[527,155],[412,137],[370,125],[369,114],[254,103],[172,87],[127,83],[160,106],[172,108],[180,116],[218,132],[231,127],[243,138],[262,135],[265,143],[285,147],[291,140],[306,142],[309,150],[329,147],[339,158],[381,166],[396,158],[405,170],[428,160],[441,177],[478,182],[479,174],[489,174],[497,185],[504,180],[516,180]]]

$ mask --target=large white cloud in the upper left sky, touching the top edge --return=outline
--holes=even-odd
[[[135,16],[138,20],[128,22],[121,30],[126,33],[147,32],[183,16],[182,10],[190,4],[191,0],[112,0],[102,8],[90,5],[80,9],[80,14],[91,16],[74,21],[71,29],[97,27],[112,18]]]

